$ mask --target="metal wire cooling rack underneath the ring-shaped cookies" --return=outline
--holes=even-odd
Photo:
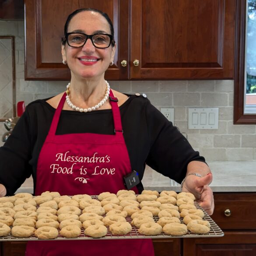
[[[97,196],[91,196],[93,199],[97,199]],[[197,209],[203,210],[198,203],[195,202],[195,206]],[[138,228],[132,225],[132,231],[126,235],[112,235],[108,228],[108,233],[104,237],[101,238],[92,238],[90,236],[84,235],[84,228],[81,228],[81,235],[77,238],[65,238],[60,235],[55,239],[39,239],[35,235],[30,237],[21,238],[21,237],[14,237],[9,235],[0,237],[0,241],[42,241],[42,240],[91,240],[91,239],[136,239],[136,238],[199,238],[199,237],[221,237],[224,236],[224,232],[219,228],[219,226],[213,221],[213,219],[203,210],[204,217],[203,220],[210,222],[210,231],[206,234],[195,234],[193,232],[188,231],[186,235],[167,235],[162,232],[159,235],[142,235],[138,232]],[[159,217],[154,217],[154,221],[157,222]],[[180,218],[181,222],[183,223],[183,218]],[[126,221],[131,223],[132,219],[130,217],[126,217]],[[60,231],[60,230],[59,230]]]

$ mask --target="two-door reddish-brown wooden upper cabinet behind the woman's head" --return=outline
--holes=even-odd
[[[25,0],[25,79],[70,79],[60,39],[67,15],[84,7],[113,21],[117,49],[108,80],[231,79],[236,1]]]

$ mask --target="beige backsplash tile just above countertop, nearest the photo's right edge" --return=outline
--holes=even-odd
[[[252,161],[253,148],[227,148],[228,161]]]

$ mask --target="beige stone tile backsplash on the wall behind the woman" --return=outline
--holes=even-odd
[[[0,35],[15,36],[16,97],[28,105],[65,90],[67,81],[24,80],[24,22],[0,21]],[[0,52],[0,55],[2,53]],[[1,80],[0,80],[1,81]],[[207,81],[109,81],[118,91],[145,93],[158,109],[175,108],[175,126],[186,133],[195,150],[207,161],[256,160],[256,125],[233,125],[234,82]],[[1,86],[1,82],[0,82]],[[11,93],[11,86],[7,94]],[[0,105],[2,102],[0,102]],[[188,130],[188,107],[218,107],[218,130]],[[5,132],[0,123],[0,138]],[[3,143],[0,142],[0,145]]]

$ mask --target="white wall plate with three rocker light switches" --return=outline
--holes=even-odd
[[[189,129],[218,129],[218,108],[189,108]]]

